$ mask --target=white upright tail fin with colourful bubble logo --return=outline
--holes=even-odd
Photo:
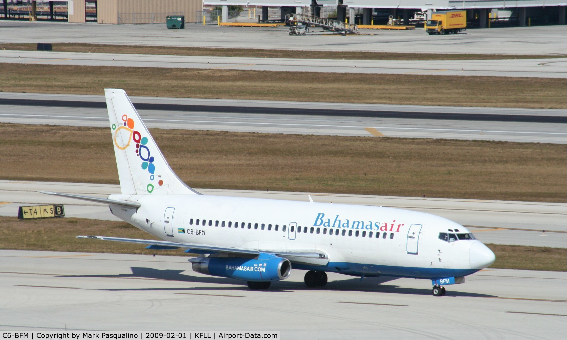
[[[175,175],[124,90],[105,88],[122,194],[199,194]]]

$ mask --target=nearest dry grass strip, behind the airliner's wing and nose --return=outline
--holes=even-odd
[[[138,244],[79,240],[75,238],[77,235],[155,239],[125,222],[79,218],[18,220],[0,216],[0,249],[191,256],[183,253],[183,249],[149,250]],[[564,248],[487,246],[496,254],[492,268],[567,271],[567,249]]]

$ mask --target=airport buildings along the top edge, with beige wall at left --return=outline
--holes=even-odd
[[[260,8],[252,19],[273,21],[268,9],[279,10],[279,21],[291,13],[321,16],[356,24],[386,24],[388,18],[408,25],[416,14],[466,10],[468,27],[565,24],[565,0],[0,0],[0,19],[63,20],[99,24],[164,23],[167,15],[184,15],[185,22],[202,22],[204,8],[218,10],[219,22],[229,21],[231,8]],[[270,20],[271,19],[271,20]],[[216,21],[216,20],[215,20]],[[277,21],[277,20],[276,20]]]

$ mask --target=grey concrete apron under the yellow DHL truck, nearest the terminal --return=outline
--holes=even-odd
[[[549,25],[468,29],[463,34],[429,36],[422,29],[367,30],[371,35],[289,36],[286,27],[238,28],[187,24],[100,25],[3,20],[0,42],[83,42],[282,50],[332,50],[422,53],[567,54],[567,27]]]

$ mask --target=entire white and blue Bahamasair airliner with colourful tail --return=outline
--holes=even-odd
[[[326,272],[358,277],[430,279],[433,295],[444,285],[494,262],[494,253],[467,228],[439,216],[375,206],[277,199],[205,196],[172,171],[123,90],[105,97],[121,194],[95,198],[113,215],[163,241],[105,236],[79,239],[187,249],[193,270],[269,288],[307,270],[305,284],[322,287]]]

